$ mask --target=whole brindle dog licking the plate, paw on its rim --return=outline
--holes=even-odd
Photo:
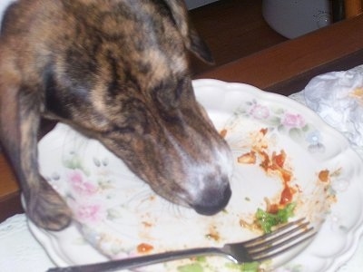
[[[212,63],[182,0],[18,0],[0,35],[0,140],[40,228],[72,221],[41,177],[41,118],[101,141],[162,198],[201,215],[231,198],[231,150],[196,101]]]

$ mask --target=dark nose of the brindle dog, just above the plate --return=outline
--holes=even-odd
[[[201,215],[211,216],[224,209],[231,199],[231,187],[227,183],[223,188],[208,188],[202,192],[198,202],[192,208]]]

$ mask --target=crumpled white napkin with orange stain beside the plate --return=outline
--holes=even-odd
[[[314,77],[303,91],[309,108],[363,148],[363,65]]]

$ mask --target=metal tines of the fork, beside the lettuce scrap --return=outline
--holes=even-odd
[[[309,221],[298,219],[243,245],[253,260],[262,261],[301,245],[315,234],[314,228],[309,227]]]

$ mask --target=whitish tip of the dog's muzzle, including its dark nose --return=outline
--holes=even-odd
[[[176,202],[211,216],[224,209],[231,199],[232,157],[228,144],[218,132],[203,133],[190,131],[192,141],[179,141],[182,149],[177,156],[182,168],[177,176],[182,179],[177,184],[182,192],[175,191],[173,195],[180,199]]]

